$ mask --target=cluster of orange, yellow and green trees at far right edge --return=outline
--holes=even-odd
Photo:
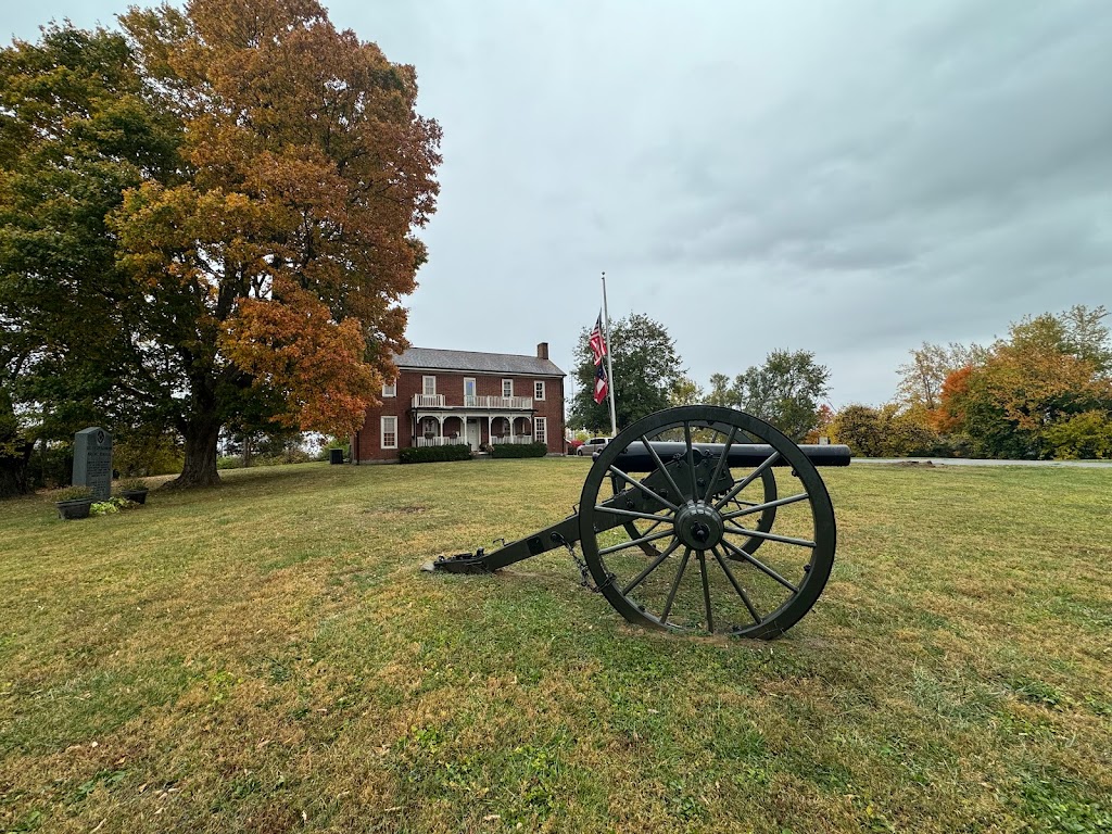
[[[1106,316],[1079,305],[1014,322],[989,347],[924,342],[892,403],[847,406],[825,430],[870,457],[1112,457]]]

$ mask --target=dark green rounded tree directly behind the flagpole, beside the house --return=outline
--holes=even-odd
[[[595,364],[585,328],[575,350],[576,396],[569,421],[592,431],[609,433],[609,405],[594,400]],[[642,417],[667,408],[674,397],[689,396],[685,389],[683,361],[667,329],[648,316],[632,314],[610,322],[610,359],[615,416],[618,430]],[[604,360],[605,361],[605,360]],[[697,388],[697,386],[696,386]]]

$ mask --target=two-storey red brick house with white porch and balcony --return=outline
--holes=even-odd
[[[398,459],[408,446],[534,443],[564,454],[564,377],[536,356],[409,348],[394,359],[398,378],[383,386],[383,404],[367,409],[351,438],[354,463]]]

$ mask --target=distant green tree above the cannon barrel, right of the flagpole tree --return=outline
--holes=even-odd
[[[717,385],[716,385],[717,378]],[[721,397],[722,375],[711,378]],[[773,350],[764,365],[734,377],[724,405],[739,408],[801,440],[818,425],[820,405],[830,390],[830,369],[810,350]]]

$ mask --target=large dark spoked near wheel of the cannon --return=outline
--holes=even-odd
[[[635,538],[624,520],[615,527],[608,517],[614,510],[603,506],[613,493],[612,478],[652,492],[615,465],[622,451],[678,435],[686,441],[685,459],[692,467],[701,463],[692,440],[698,429],[715,429],[727,444],[751,439],[767,444],[772,454],[752,470],[731,470],[734,485],[725,493],[701,495],[696,477],[672,483],[672,500],[656,496],[661,509],[643,519],[657,525],[657,532],[647,536],[649,542],[639,540],[646,536],[636,527],[642,535]],[[703,464],[704,469],[712,463]],[[775,465],[784,465],[783,473],[790,467],[794,477],[786,479],[792,486],[785,487],[785,495],[773,499],[780,510],[775,520],[782,524],[773,525],[775,532],[761,530],[747,524],[748,517],[764,516],[772,508],[764,506],[768,500],[736,507],[733,499],[749,485],[756,487]],[[704,483],[714,480],[706,477]],[[610,605],[632,623],[674,632],[777,637],[815,604],[834,565],[834,509],[817,469],[777,429],[717,406],[657,411],[618,434],[587,474],[578,524],[584,558]],[[765,545],[761,559],[745,546],[753,538]],[[643,548],[653,543],[655,556],[646,564]]]

